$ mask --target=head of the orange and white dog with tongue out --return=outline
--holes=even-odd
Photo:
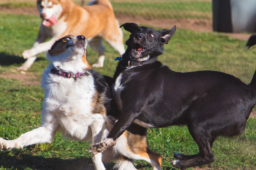
[[[37,0],[37,9],[44,26],[57,25],[57,19],[63,11],[59,0]]]

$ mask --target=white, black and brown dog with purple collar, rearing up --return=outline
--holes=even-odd
[[[118,118],[108,85],[112,80],[92,69],[86,59],[86,45],[82,35],[68,35],[53,44],[46,54],[51,64],[41,83],[45,91],[42,125],[14,140],[0,138],[0,150],[51,143],[57,130],[63,137],[76,141],[100,143],[105,139],[108,129],[114,126],[112,117]],[[148,148],[146,131],[144,127],[131,125],[114,147],[92,155],[95,169],[104,170],[102,162],[118,160],[116,169],[133,170],[134,160],[142,159],[159,170],[161,156]]]

